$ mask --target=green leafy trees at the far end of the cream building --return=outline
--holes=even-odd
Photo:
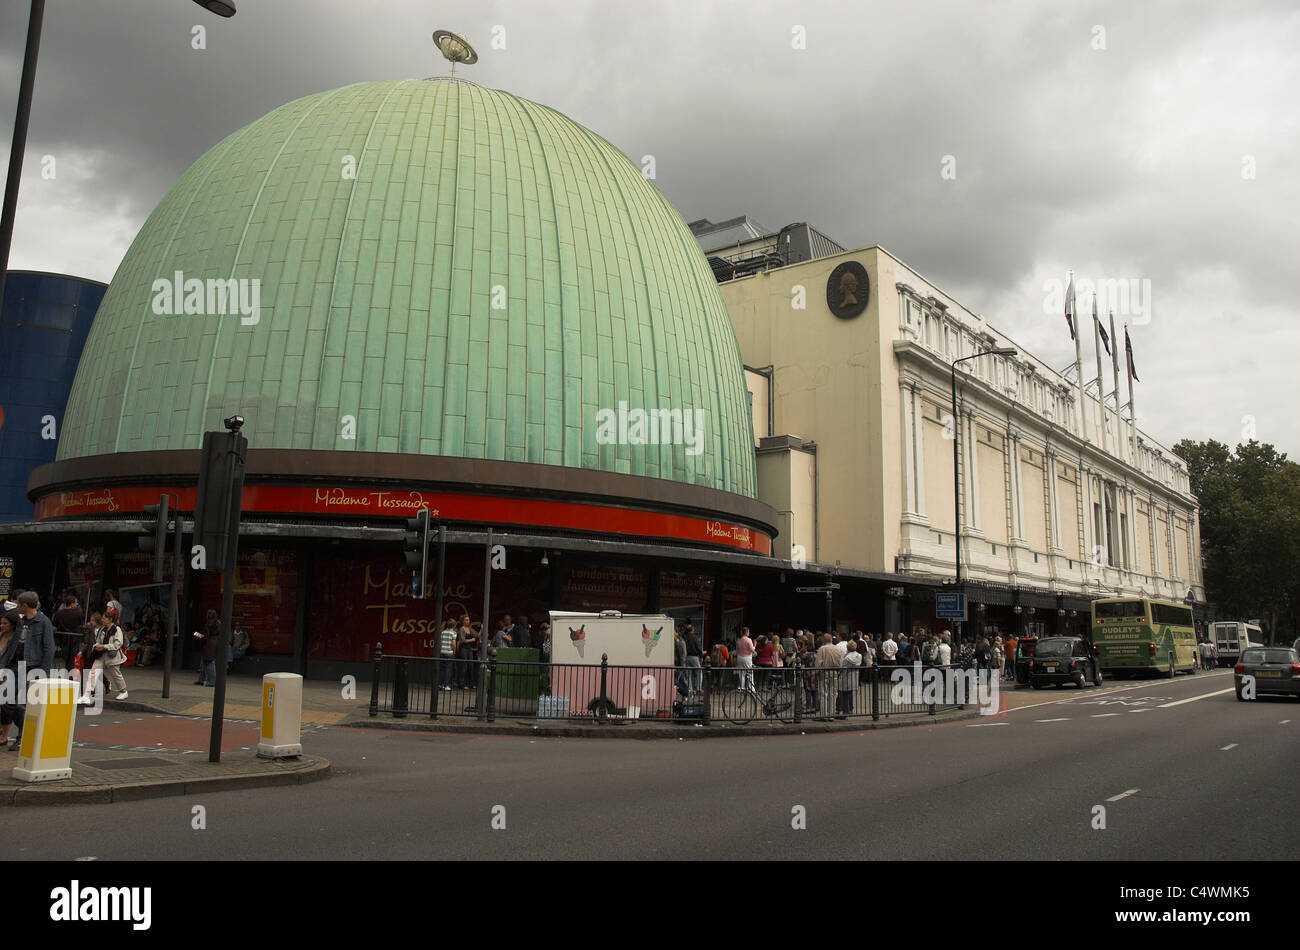
[[[1258,617],[1273,642],[1290,642],[1300,607],[1300,465],[1254,439],[1232,451],[1183,439],[1174,452],[1200,504],[1205,594],[1218,617]]]

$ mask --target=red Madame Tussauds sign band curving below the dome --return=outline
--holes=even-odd
[[[178,496],[181,511],[194,511],[194,487],[114,487],[58,491],[36,502],[36,520],[116,512],[140,512],[157,504],[159,495]],[[772,539],[732,521],[711,521],[688,515],[616,508],[607,504],[499,498],[443,491],[313,487],[309,485],[246,485],[243,511],[276,515],[343,515],[413,517],[421,508],[443,521],[562,528],[601,534],[672,538],[734,547],[770,555]]]

